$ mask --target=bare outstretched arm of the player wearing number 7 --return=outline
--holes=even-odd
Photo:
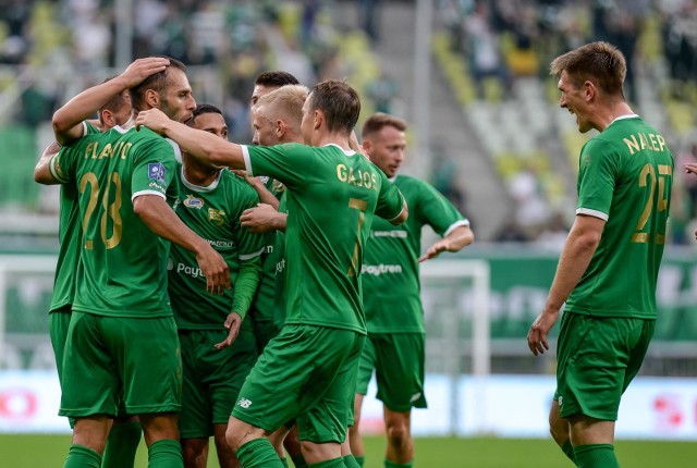
[[[242,147],[216,135],[174,122],[158,109],[142,111],[136,127],[147,126],[174,140],[184,151],[213,165],[245,169]]]

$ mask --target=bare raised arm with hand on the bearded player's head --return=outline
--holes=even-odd
[[[53,114],[56,140],[64,145],[83,136],[82,122],[93,116],[120,93],[140,84],[148,76],[162,72],[170,61],[162,57],[138,59],[119,76],[85,89]]]

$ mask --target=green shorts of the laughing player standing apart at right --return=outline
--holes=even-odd
[[[557,393],[562,418],[615,421],[620,399],[639,372],[656,320],[565,312],[557,345]]]

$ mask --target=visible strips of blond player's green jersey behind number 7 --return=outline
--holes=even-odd
[[[266,178],[264,185],[279,200],[285,193],[283,185],[273,178]],[[271,231],[265,234],[266,249],[262,256],[262,270],[261,279],[259,280],[259,287],[257,294],[254,296],[254,317],[257,321],[273,321],[276,317],[276,262],[278,256],[273,253],[277,244],[277,231]]]

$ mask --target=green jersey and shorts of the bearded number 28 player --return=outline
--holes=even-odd
[[[181,359],[167,294],[169,242],[133,210],[138,196],[174,198],[174,146],[119,126],[63,147],[53,177],[78,192],[81,261],[63,358],[60,414],[179,411]],[[84,375],[90,375],[85,380]]]

